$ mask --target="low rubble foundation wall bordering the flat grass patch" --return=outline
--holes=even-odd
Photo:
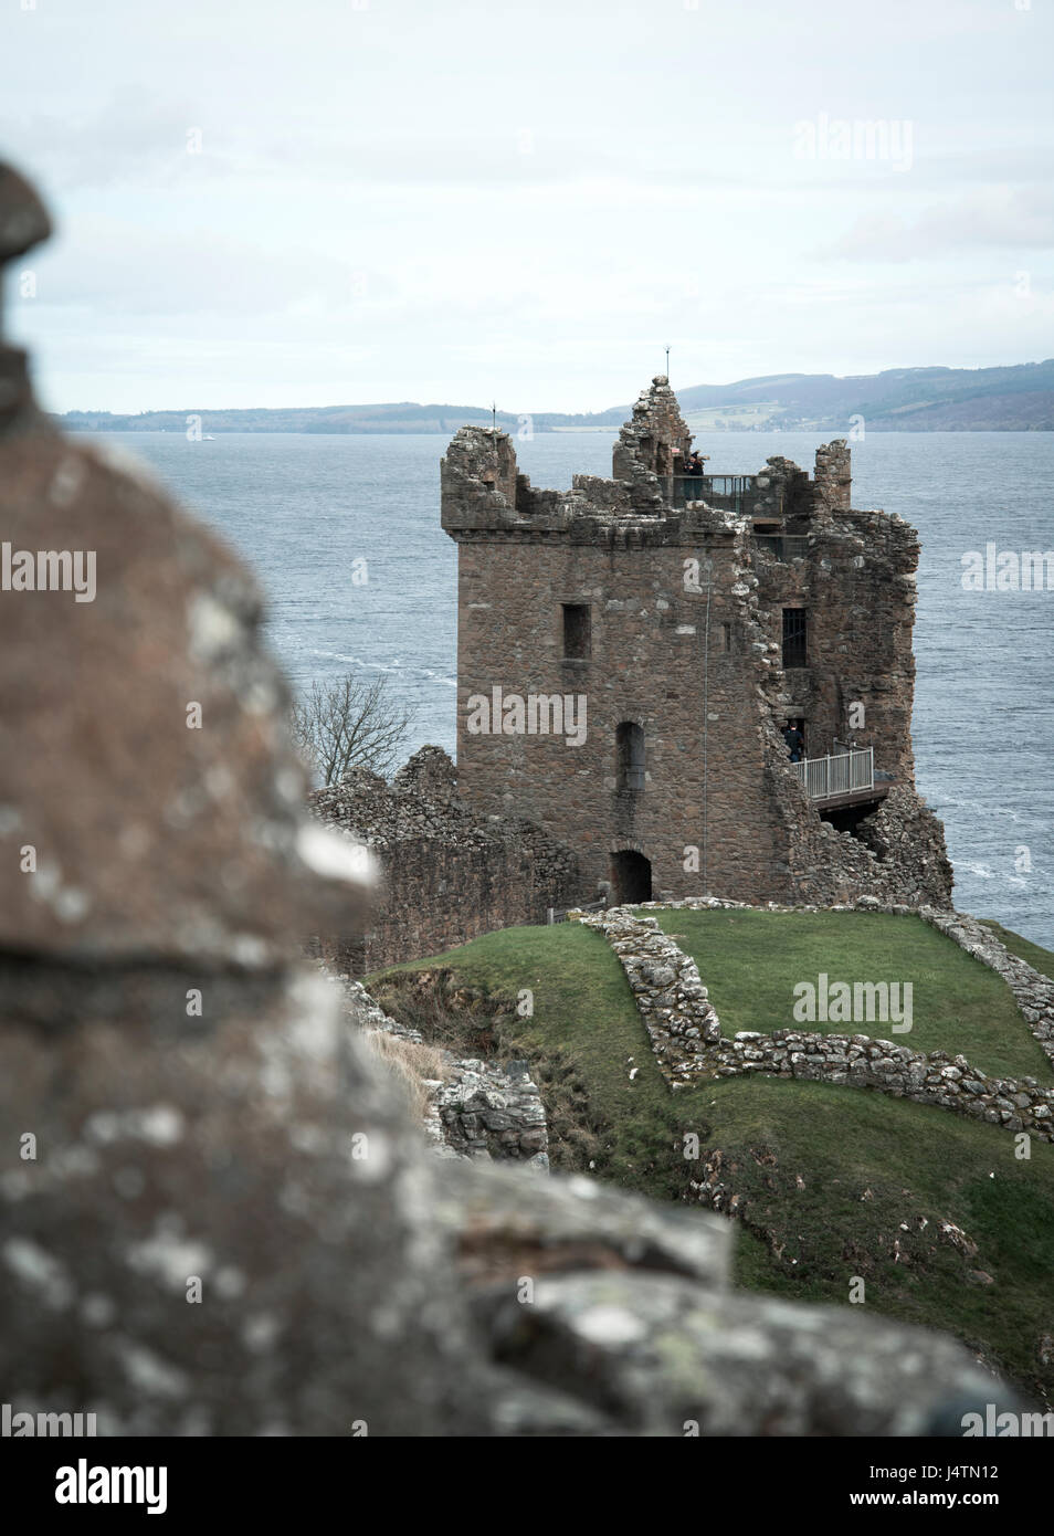
[[[718,899],[671,903],[645,903],[670,909],[745,908],[744,902]],[[768,908],[771,911],[817,911],[817,908]],[[844,908],[850,909],[850,908]],[[862,911],[882,909],[874,899]],[[907,906],[887,908],[908,912]],[[963,914],[928,911],[933,926],[956,938],[986,965],[1014,978],[1019,1006],[1045,1049],[1049,1046],[1054,986],[1023,960]],[[668,938],[653,917],[636,917],[628,908],[613,908],[578,919],[605,935],[618,954],[633,991],[641,1018],[651,1040],[659,1071],[670,1089],[690,1086],[699,1078],[794,1077],[811,1081],[870,1087],[894,1098],[951,1109],[954,1114],[986,1120],[1008,1130],[1026,1130],[1042,1141],[1054,1141],[1054,1087],[1036,1078],[1003,1078],[980,1072],[963,1055],[943,1051],[913,1051],[870,1035],[819,1034],[816,1031],[776,1029],[771,1034],[741,1031],[733,1040],[721,1034],[721,1020],[702,985],[694,960]],[[983,952],[980,952],[983,951]],[[1013,963],[1011,963],[1013,962]],[[1045,983],[1045,985],[1043,985]],[[1020,994],[1020,995],[1019,995]],[[1045,1029],[1046,1035],[1040,1035]],[[1049,1049],[1048,1049],[1049,1054]]]

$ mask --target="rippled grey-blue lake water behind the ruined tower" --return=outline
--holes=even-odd
[[[518,442],[535,485],[610,475],[607,432]],[[456,550],[439,528],[436,436],[108,433],[249,559],[298,684],[387,673],[416,708],[410,746],[453,753]],[[714,473],[770,453],[811,468],[814,433],[701,436]],[[873,433],[854,507],[919,528],[917,782],[943,819],[956,903],[1054,948],[1054,591],[968,593],[962,554],[1054,548],[1054,433]],[[369,581],[355,585],[353,562]]]

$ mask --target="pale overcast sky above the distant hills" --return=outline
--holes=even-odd
[[[1051,0],[0,5],[55,410],[1054,355]]]

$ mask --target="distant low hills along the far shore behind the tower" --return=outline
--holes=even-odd
[[[848,432],[862,416],[868,432],[1054,432],[1054,358],[1000,369],[887,369],[837,378],[834,373],[774,373],[736,384],[678,389],[688,424],[698,430]],[[499,410],[498,425],[516,432],[527,415],[535,432],[612,429],[630,406],[584,415]],[[217,432],[426,432],[452,436],[466,424],[490,425],[482,406],[313,406],[283,410],[149,410],[120,416],[71,410],[57,418],[71,432],[186,432],[200,416]]]

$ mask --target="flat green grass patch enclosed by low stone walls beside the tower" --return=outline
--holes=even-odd
[[[865,1034],[914,1051],[962,1054],[971,1066],[1002,1077],[1052,1080],[1051,1064],[1006,983],[920,917],[756,911],[651,915],[699,966],[725,1035],[739,1029]],[[911,1031],[894,1034],[890,1023],[879,1020],[796,1021],[794,986],[816,986],[820,972],[830,983],[910,982]]]

